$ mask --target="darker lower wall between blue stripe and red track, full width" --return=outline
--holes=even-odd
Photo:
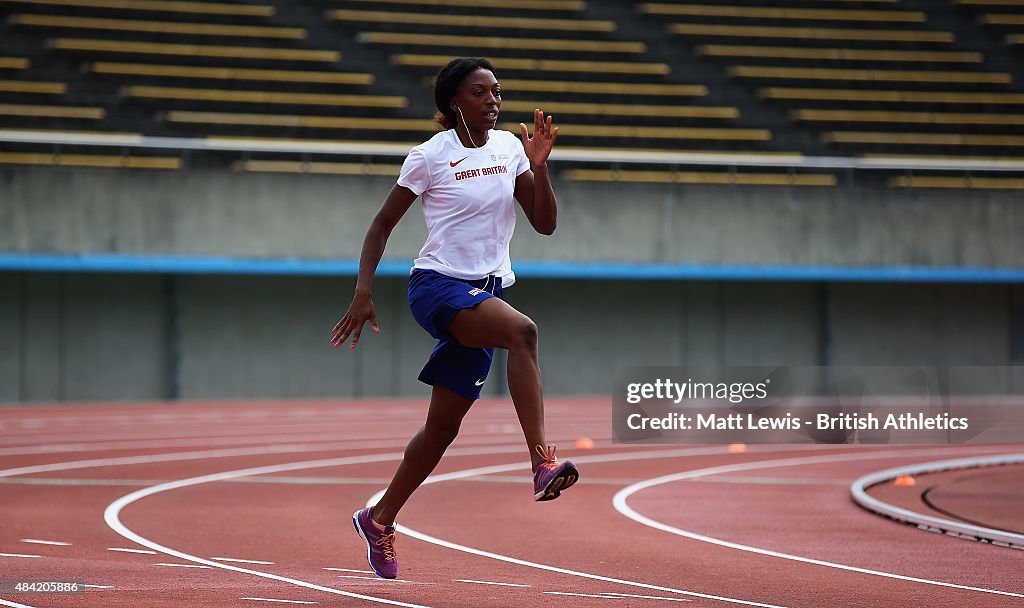
[[[383,330],[330,329],[351,278],[0,273],[0,401],[423,395],[432,340],[406,281],[380,278]],[[603,394],[624,366],[1009,364],[1019,287],[522,280],[551,394]],[[1019,322],[1019,320],[1017,321]],[[1017,333],[1016,341],[1014,333]],[[504,394],[496,357],[486,394]]]

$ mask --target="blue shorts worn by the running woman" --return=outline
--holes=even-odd
[[[460,310],[501,297],[502,279],[497,276],[462,280],[433,270],[413,270],[409,277],[409,308],[416,322],[437,339],[420,372],[420,382],[438,384],[473,401],[480,398],[495,349],[463,346],[447,329]]]

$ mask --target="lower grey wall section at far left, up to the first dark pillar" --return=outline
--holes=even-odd
[[[167,398],[160,276],[0,273],[0,400]]]

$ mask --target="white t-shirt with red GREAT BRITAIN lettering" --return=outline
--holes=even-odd
[[[515,230],[515,179],[529,169],[522,141],[492,130],[487,142],[466,147],[455,129],[409,153],[398,185],[422,197],[427,242],[414,268],[462,279],[489,274],[515,283],[509,242]]]

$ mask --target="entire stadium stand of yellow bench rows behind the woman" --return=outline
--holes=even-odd
[[[564,149],[1007,158],[1024,143],[1022,14],[1011,0],[0,0],[0,129],[414,144],[434,131],[438,68],[483,54],[505,91],[501,126],[517,132],[542,107]],[[17,158],[54,164],[44,157]],[[212,162],[367,171],[342,158]]]

